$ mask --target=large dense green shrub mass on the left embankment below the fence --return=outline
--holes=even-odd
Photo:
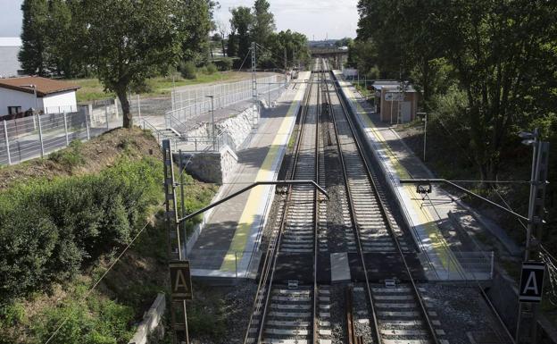
[[[71,279],[129,242],[162,196],[154,159],[95,176],[34,180],[0,193],[0,303]],[[0,305],[2,306],[2,305]]]

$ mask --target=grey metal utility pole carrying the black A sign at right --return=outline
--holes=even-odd
[[[533,147],[524,262],[539,262],[545,214],[545,187],[549,167],[549,142],[540,140],[537,128],[532,132],[522,131],[519,135],[520,138],[523,138],[523,144]],[[536,303],[520,302],[515,339],[517,344],[537,343],[538,308]]]

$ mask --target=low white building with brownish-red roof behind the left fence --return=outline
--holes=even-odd
[[[71,82],[41,77],[0,79],[0,116],[38,109],[41,113],[78,111]]]

